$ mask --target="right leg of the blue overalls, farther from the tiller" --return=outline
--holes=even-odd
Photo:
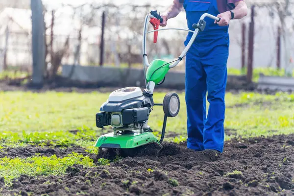
[[[204,148],[223,151],[225,88],[227,82],[228,47],[220,46],[210,52],[209,58],[201,59],[207,75],[207,100],[209,109],[204,125]]]

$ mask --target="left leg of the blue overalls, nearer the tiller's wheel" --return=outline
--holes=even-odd
[[[192,50],[193,51],[193,50]],[[195,51],[186,56],[187,147],[204,150],[203,130],[206,119],[206,73]]]

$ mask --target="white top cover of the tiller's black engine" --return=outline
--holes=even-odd
[[[126,87],[113,91],[108,98],[108,101],[123,101],[130,98],[143,96],[141,88],[139,87]]]

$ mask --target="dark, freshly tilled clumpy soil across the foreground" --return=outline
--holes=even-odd
[[[62,176],[26,176],[3,186],[0,194],[22,196],[276,196],[294,195],[294,134],[269,138],[233,139],[224,152],[209,154],[186,148],[186,143],[141,147],[136,154],[83,168],[73,165]],[[31,152],[37,152],[36,147]],[[58,156],[62,151],[54,148]],[[70,152],[71,149],[63,153]],[[78,147],[73,148],[79,151]],[[81,151],[81,150],[80,150]],[[10,151],[11,152],[11,151]],[[51,154],[38,151],[44,154]],[[114,155],[100,151],[99,157]],[[25,156],[21,149],[14,152]],[[9,154],[9,153],[8,153]],[[122,154],[121,154],[122,155]],[[93,157],[92,157],[93,158]],[[235,171],[235,172],[234,172]],[[237,171],[237,172],[236,172]]]

